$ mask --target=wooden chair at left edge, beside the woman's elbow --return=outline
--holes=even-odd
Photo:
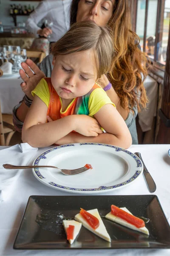
[[[8,146],[12,135],[15,132],[12,115],[2,114],[0,108],[0,145]],[[5,134],[8,134],[5,141]]]

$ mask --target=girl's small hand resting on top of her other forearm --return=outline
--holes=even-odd
[[[100,125],[96,119],[86,115],[74,115],[75,126],[74,129],[79,134],[84,136],[97,137],[98,134],[102,134],[103,131],[100,129]]]

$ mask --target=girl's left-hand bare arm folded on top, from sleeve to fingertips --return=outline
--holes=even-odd
[[[46,147],[65,137],[71,131],[77,131],[85,137],[95,137],[102,133],[99,123],[85,115],[66,116],[46,123],[47,111],[45,103],[35,95],[23,125],[23,142],[33,147]]]

